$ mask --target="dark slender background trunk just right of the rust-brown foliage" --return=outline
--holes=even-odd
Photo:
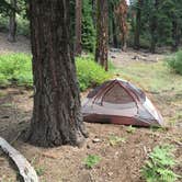
[[[135,39],[134,39],[135,49],[140,48],[141,7],[143,7],[143,0],[138,0],[137,14],[136,14],[136,30],[135,30]]]

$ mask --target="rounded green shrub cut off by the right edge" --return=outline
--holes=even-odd
[[[182,75],[182,50],[172,55],[167,62],[174,72]]]

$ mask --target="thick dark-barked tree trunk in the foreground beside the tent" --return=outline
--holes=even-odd
[[[73,56],[68,0],[31,0],[34,109],[30,141],[79,145],[86,136]]]

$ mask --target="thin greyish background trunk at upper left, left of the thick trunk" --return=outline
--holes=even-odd
[[[16,0],[11,0],[11,7],[15,10],[16,9]],[[10,20],[9,20],[9,42],[15,42],[15,33],[16,33],[16,22],[15,22],[15,11],[11,10]]]

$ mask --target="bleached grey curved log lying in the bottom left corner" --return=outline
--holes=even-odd
[[[13,160],[24,182],[38,182],[37,174],[30,162],[2,137],[0,137],[0,148]]]

